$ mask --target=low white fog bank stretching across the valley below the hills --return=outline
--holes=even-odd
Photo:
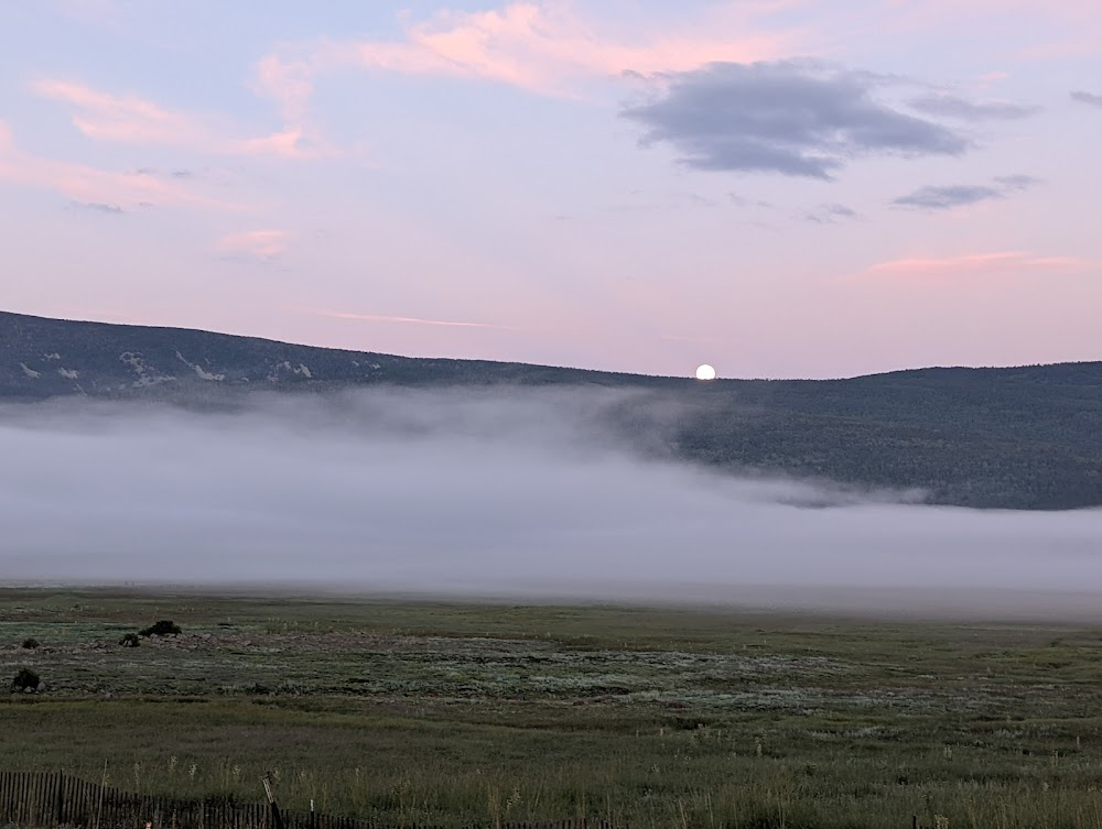
[[[1007,612],[1102,589],[1102,511],[721,477],[620,440],[613,413],[633,404],[376,390],[207,413],[3,406],[0,580]]]

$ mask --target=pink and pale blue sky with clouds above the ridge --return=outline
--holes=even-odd
[[[0,0],[0,309],[721,377],[1102,359],[1098,0]]]

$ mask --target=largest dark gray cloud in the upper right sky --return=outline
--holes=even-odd
[[[695,170],[830,178],[865,155],[959,155],[968,140],[878,100],[890,79],[811,62],[717,63],[665,76],[656,99],[625,107],[642,143],[669,143]]]

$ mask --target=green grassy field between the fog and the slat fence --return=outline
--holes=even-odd
[[[8,589],[0,677],[48,689],[0,696],[0,768],[270,771],[395,823],[1102,827],[1100,665],[1055,623]]]

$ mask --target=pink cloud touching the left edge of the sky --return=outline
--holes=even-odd
[[[236,209],[235,205],[206,198],[181,182],[162,181],[140,172],[99,170],[22,152],[3,122],[0,122],[0,181],[54,190],[80,204],[127,208],[154,204]]]

